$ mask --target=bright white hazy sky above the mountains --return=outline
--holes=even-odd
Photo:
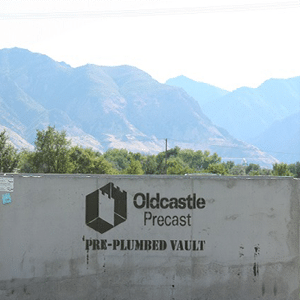
[[[300,76],[300,2],[0,0],[0,48],[224,89]]]

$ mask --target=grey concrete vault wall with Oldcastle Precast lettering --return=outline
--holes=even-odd
[[[0,176],[0,299],[298,299],[292,178]]]

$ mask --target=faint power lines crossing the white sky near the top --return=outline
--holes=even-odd
[[[0,20],[20,19],[74,19],[74,18],[118,18],[118,17],[146,17],[165,15],[186,15],[202,13],[224,13],[243,11],[262,11],[274,9],[299,8],[299,1],[285,1],[273,3],[254,3],[239,5],[220,5],[202,7],[174,7],[156,9],[107,10],[107,11],[53,11],[53,12],[25,12],[0,13]]]

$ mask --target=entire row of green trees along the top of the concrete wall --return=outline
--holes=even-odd
[[[273,175],[300,178],[300,162],[276,163],[272,169],[258,164],[221,162],[209,151],[172,148],[157,155],[109,149],[105,153],[71,146],[65,131],[49,126],[37,130],[34,151],[18,152],[5,131],[0,133],[0,172],[69,174],[169,174],[209,173],[219,175]]]

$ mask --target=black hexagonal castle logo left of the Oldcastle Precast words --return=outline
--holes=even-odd
[[[86,196],[85,209],[86,225],[104,233],[126,221],[127,193],[110,182]]]

